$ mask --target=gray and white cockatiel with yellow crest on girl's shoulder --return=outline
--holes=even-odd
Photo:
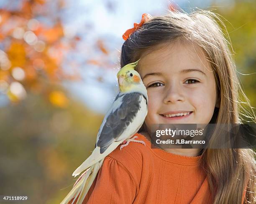
[[[145,142],[136,140],[137,136],[131,138],[142,126],[148,112],[147,90],[139,73],[134,70],[138,61],[125,65],[117,73],[120,92],[102,121],[95,149],[72,176],[76,177],[87,170],[61,204],[68,203],[72,198],[74,202],[78,196],[77,204],[82,203],[105,157],[119,144],[123,144],[120,149],[127,146],[129,142],[140,142],[146,145]]]

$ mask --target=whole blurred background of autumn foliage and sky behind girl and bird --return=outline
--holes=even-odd
[[[255,0],[0,0],[0,195],[61,202],[118,93],[123,32],[170,5],[223,16],[256,107]]]

